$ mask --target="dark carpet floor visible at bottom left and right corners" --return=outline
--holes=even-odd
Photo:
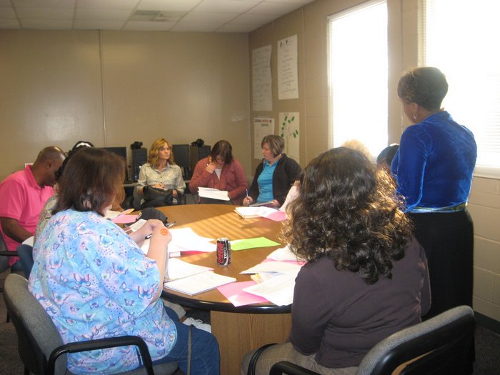
[[[8,271],[0,274],[0,287]],[[1,294],[1,293],[0,293]],[[189,315],[189,314],[188,314]],[[206,317],[196,316],[204,319]],[[17,354],[17,335],[12,323],[6,323],[4,296],[0,296],[0,374],[23,374],[24,367]],[[446,375],[446,374],[445,374]],[[500,335],[484,327],[476,328],[476,364],[474,375],[500,375]]]

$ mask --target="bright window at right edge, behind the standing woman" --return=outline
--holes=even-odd
[[[423,0],[426,66],[446,75],[444,108],[474,133],[476,175],[500,176],[500,1]]]

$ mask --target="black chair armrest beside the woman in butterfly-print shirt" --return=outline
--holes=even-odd
[[[135,345],[139,347],[139,352],[141,353],[142,363],[146,367],[148,375],[154,375],[153,371],[153,361],[151,361],[151,355],[149,354],[149,349],[143,339],[139,336],[119,336],[111,337],[109,339],[96,339],[89,341],[79,341],[71,342],[68,344],[61,345],[54,349],[49,356],[49,363],[47,364],[47,372],[49,375],[54,374],[56,359],[62,354],[66,353],[79,353],[81,351],[90,351],[96,349],[108,349],[115,348],[117,346],[129,346]]]

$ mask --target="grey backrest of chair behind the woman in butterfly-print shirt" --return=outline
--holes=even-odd
[[[16,328],[19,356],[34,374],[46,374],[47,359],[63,341],[43,306],[28,290],[28,281],[9,274],[4,284],[7,311]],[[56,362],[55,374],[66,372],[66,356]]]

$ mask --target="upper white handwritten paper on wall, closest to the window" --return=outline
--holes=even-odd
[[[299,98],[297,36],[278,41],[278,99]]]

